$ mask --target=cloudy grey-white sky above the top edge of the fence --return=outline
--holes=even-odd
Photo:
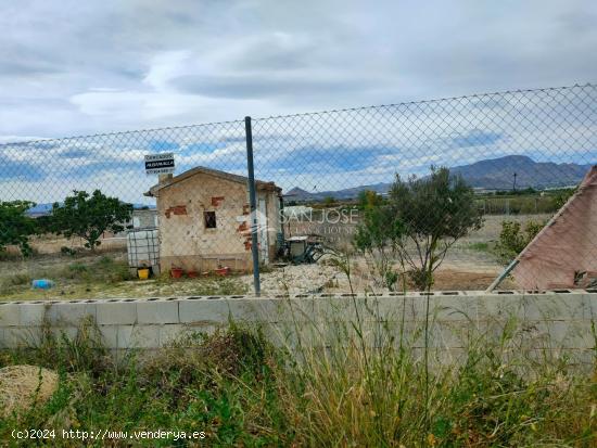
[[[0,135],[59,137],[593,80],[597,3],[7,0]]]

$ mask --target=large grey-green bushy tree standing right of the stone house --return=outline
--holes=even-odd
[[[355,245],[394,251],[420,290],[433,284],[433,272],[449,247],[483,221],[472,188],[448,168],[431,167],[429,176],[406,181],[396,175],[388,205],[380,209],[382,217],[365,216]]]

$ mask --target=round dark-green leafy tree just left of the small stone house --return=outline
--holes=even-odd
[[[130,220],[132,205],[109,197],[100,190],[91,195],[85,191],[74,191],[64,204],[52,206],[51,229],[66,238],[80,236],[85,246],[93,251],[100,245],[100,236],[105,231],[114,233],[125,229],[124,223]]]

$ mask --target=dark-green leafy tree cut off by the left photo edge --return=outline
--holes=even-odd
[[[25,215],[35,203],[28,201],[0,202],[0,251],[14,244],[24,256],[31,254],[29,235],[35,233],[35,220]]]

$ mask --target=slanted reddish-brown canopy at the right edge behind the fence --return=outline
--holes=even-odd
[[[597,165],[510,269],[525,290],[587,287],[597,280]]]

